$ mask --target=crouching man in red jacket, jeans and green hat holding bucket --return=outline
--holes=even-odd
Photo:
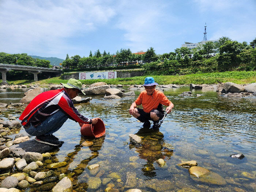
[[[19,119],[25,131],[41,143],[59,146],[59,141],[52,133],[58,131],[65,121],[70,118],[83,124],[96,124],[98,118],[86,118],[79,114],[71,99],[82,93],[82,83],[76,79],[69,79],[68,83],[61,83],[64,88],[45,91],[37,95],[23,111]]]

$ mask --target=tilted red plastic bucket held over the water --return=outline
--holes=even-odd
[[[82,135],[99,138],[105,135],[105,124],[99,118],[96,124],[83,124],[80,131]]]

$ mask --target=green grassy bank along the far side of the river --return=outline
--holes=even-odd
[[[95,82],[106,82],[108,84],[144,84],[146,76],[133,78],[117,78],[117,79],[94,79],[94,80],[80,80],[83,84],[92,84]],[[158,84],[214,84],[233,82],[237,84],[247,84],[256,82],[256,71],[227,71],[217,73],[191,74],[191,75],[153,75],[155,82]],[[61,77],[40,80],[38,82],[30,82],[27,80],[8,81],[12,84],[60,84],[67,83],[68,80],[63,80]]]

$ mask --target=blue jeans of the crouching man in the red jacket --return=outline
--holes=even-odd
[[[62,110],[59,110],[53,115],[47,117],[37,127],[30,124],[30,127],[25,129],[25,131],[32,136],[50,135],[58,131],[67,119],[68,116]]]

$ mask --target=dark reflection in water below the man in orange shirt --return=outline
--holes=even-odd
[[[139,157],[147,160],[147,163],[142,168],[143,174],[145,176],[155,177],[156,173],[154,172],[155,167],[153,163],[160,158],[165,159],[167,157],[169,159],[173,154],[173,150],[166,147],[165,141],[163,140],[164,135],[159,129],[143,127],[139,129],[136,135],[142,138],[142,144],[130,144],[129,147],[135,147],[139,153]]]

